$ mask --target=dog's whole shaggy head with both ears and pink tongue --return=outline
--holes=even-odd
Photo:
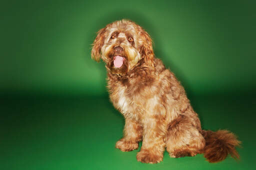
[[[97,32],[91,57],[105,62],[112,73],[125,74],[144,59],[153,67],[152,41],[146,31],[129,20],[107,24]]]

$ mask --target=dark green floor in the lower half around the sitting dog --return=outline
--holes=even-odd
[[[138,150],[114,148],[124,120],[107,97],[30,96],[1,100],[0,169],[255,169],[256,100],[220,98],[190,97],[204,129],[237,134],[240,161],[228,156],[208,163],[202,154],[170,158],[165,151],[162,162],[143,164],[136,160]]]

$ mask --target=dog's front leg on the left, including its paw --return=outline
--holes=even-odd
[[[140,124],[128,117],[125,118],[123,137],[115,144],[121,151],[131,151],[138,148],[138,141],[142,137],[142,127]]]

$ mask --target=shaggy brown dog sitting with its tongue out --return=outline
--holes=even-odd
[[[105,62],[107,88],[113,106],[125,118],[121,151],[138,148],[136,158],[158,163],[166,148],[170,157],[204,153],[209,162],[239,158],[237,137],[227,130],[202,130],[184,88],[155,57],[149,34],[131,20],[101,28],[92,44],[91,58]]]

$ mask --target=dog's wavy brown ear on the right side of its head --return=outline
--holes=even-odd
[[[152,47],[152,39],[144,30],[140,32],[140,37],[142,39],[142,44],[140,46],[139,53],[141,57],[144,58],[146,64],[148,64],[151,67],[154,67],[154,52]]]

